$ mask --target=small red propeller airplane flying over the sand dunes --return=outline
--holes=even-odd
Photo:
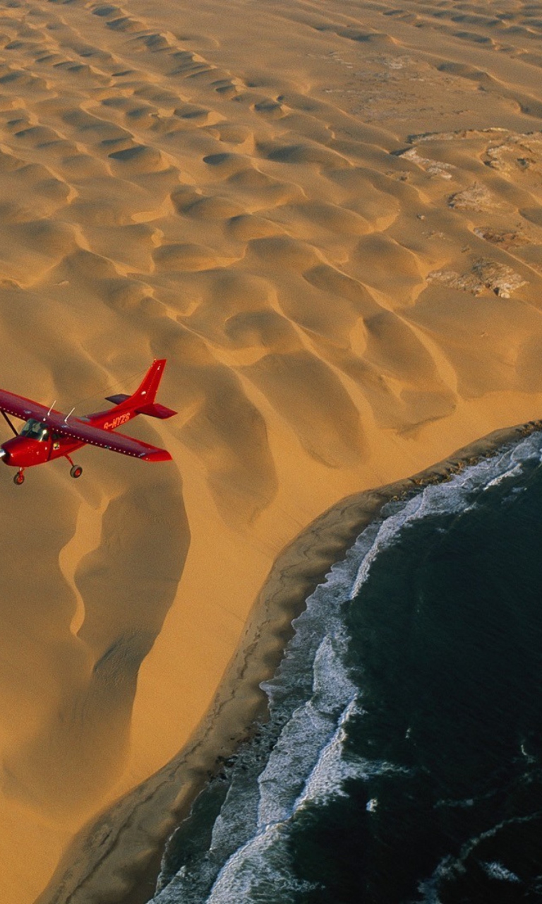
[[[0,413],[14,432],[14,438],[0,446],[0,458],[5,465],[17,468],[14,483],[18,486],[24,483],[25,468],[42,465],[53,458],[67,458],[71,465],[70,475],[80,477],[83,469],[73,464],[70,455],[87,445],[142,458],[143,461],[170,461],[171,455],[165,449],[113,433],[137,414],[148,414],[161,420],[177,414],[154,401],[164,366],[164,359],[154,361],[133,395],[107,396],[107,401],[114,403],[113,408],[80,418],[71,417],[73,409],[70,414],[63,415],[52,405],[48,409],[39,402],[0,390]],[[26,421],[20,433],[9,419],[10,414]]]

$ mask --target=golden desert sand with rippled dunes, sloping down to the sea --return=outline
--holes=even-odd
[[[522,0],[2,5],[0,385],[84,414],[165,357],[179,411],[130,429],[172,463],[0,469],[5,904],[148,899],[341,500],[539,418],[541,32]]]

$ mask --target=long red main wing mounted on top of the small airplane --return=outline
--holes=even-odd
[[[122,433],[113,433],[94,427],[93,424],[79,418],[64,419],[61,411],[49,410],[45,405],[24,396],[15,395],[14,392],[0,390],[0,411],[13,415],[14,418],[28,420],[34,418],[42,420],[48,427],[62,436],[73,439],[75,442],[87,443],[89,446],[109,449],[111,452],[120,452],[121,455],[129,455],[142,458],[143,461],[170,461],[171,455],[165,449],[151,446],[141,439],[126,437]]]

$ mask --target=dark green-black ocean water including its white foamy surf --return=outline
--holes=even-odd
[[[360,534],[154,904],[542,901],[541,460],[535,433]]]

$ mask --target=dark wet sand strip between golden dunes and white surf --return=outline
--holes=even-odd
[[[260,683],[275,672],[306,598],[390,500],[440,483],[465,466],[542,429],[542,420],[500,428],[413,476],[344,497],[277,556],[251,607],[236,653],[210,710],[188,744],[162,769],[85,826],[35,904],[146,904],[165,845],[224,758],[265,718]]]

